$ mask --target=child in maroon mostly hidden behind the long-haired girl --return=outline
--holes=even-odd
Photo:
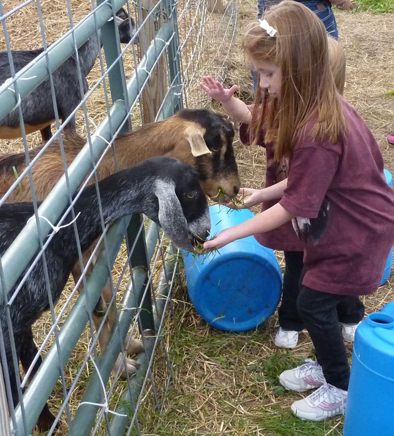
[[[346,68],[345,53],[339,42],[331,37],[328,37],[328,56],[336,88],[340,94],[343,94]],[[204,80],[206,86],[203,86],[203,88],[208,94],[210,94],[211,91],[215,91],[217,87],[223,89],[221,83],[215,82],[211,77],[205,77]],[[249,110],[252,108],[253,106],[248,106]],[[249,144],[248,128],[248,123],[241,123],[239,129],[241,142],[246,145]],[[281,162],[275,161],[274,146],[272,144],[264,144],[262,135],[256,139],[256,142],[258,145],[262,145],[266,148],[265,187],[284,180],[287,177],[288,160],[283,159]],[[244,189],[244,195],[251,194],[255,191],[255,189]],[[264,195],[264,190],[262,190],[261,194]],[[278,201],[279,199],[264,202],[262,211],[270,208]],[[245,207],[251,207],[258,203],[260,203],[260,201],[252,204],[251,200],[247,199]],[[275,345],[280,348],[294,348],[298,342],[299,332],[305,328],[296,308],[296,300],[299,292],[298,284],[303,268],[304,254],[302,251],[302,243],[297,238],[290,221],[271,232],[256,235],[256,239],[265,247],[284,251],[286,268],[283,275],[282,300],[278,309],[279,330],[275,335],[274,342]],[[356,328],[364,316],[364,306],[360,299],[354,299],[351,303],[352,304],[348,304],[347,306],[340,305],[337,307],[342,336],[347,342],[354,341]]]

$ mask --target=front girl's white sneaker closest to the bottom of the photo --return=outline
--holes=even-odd
[[[344,415],[348,391],[325,383],[303,400],[294,401],[292,412],[307,421],[324,421],[335,415]]]

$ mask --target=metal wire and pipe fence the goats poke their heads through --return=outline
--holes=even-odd
[[[122,168],[119,134],[183,106],[201,107],[203,74],[225,79],[235,0],[0,0],[0,14],[0,150],[6,154],[0,156],[0,404],[6,400],[17,436],[40,434],[34,426],[48,398],[54,419],[47,414],[41,423],[46,435],[143,434],[141,402],[162,411],[171,381],[164,322],[174,315],[177,249],[140,215],[105,223],[99,180]],[[62,134],[73,130],[74,118],[83,141],[71,150]],[[91,217],[78,218],[74,207],[90,184],[101,236],[86,257],[77,223]],[[31,203],[6,209],[15,201]],[[5,226],[9,216],[19,228]],[[58,298],[51,247],[62,240],[62,226],[73,229],[72,239],[57,250],[72,247],[80,273],[62,284]],[[40,309],[23,303],[37,277],[46,295]],[[18,314],[34,321],[29,313],[43,309],[32,337],[26,326],[16,329]],[[143,351],[131,360],[138,341]],[[7,435],[7,413],[0,415]]]

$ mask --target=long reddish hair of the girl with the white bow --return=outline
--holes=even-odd
[[[328,38],[322,21],[303,4],[289,0],[271,7],[263,18],[277,30],[275,36],[253,23],[247,27],[242,45],[252,64],[263,60],[277,66],[282,85],[279,100],[258,87],[251,137],[263,129],[265,142],[275,143],[278,161],[290,156],[297,139],[305,134],[336,144],[345,133],[346,124],[330,69]]]

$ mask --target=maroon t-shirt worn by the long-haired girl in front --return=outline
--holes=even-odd
[[[279,203],[297,216],[303,285],[364,295],[379,287],[393,246],[394,192],[372,133],[356,110],[341,102],[347,134],[338,144],[310,138],[296,143]]]

